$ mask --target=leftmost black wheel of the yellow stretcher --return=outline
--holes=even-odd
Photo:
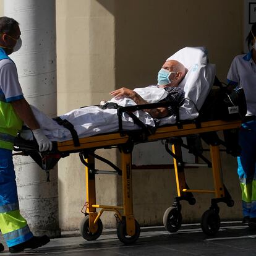
[[[96,240],[102,233],[103,224],[99,219],[98,222],[98,229],[95,233],[90,232],[89,229],[89,215],[86,215],[80,223],[80,234],[81,236],[87,241]]]

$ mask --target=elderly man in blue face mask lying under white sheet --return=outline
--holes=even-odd
[[[180,62],[174,60],[166,61],[158,72],[157,85],[135,88],[134,90],[124,87],[114,90],[110,93],[113,98],[108,102],[117,103],[119,106],[132,106],[160,101],[172,101],[174,106],[143,109],[134,112],[135,116],[144,124],[155,126],[155,119],[176,115],[179,103],[184,98],[184,92],[178,85],[185,75],[186,68]],[[32,111],[44,134],[50,140],[62,142],[72,139],[69,130],[60,126],[56,121],[41,113],[41,111],[33,106]],[[112,108],[102,109],[100,106],[87,106],[85,108],[74,109],[60,117],[73,124],[80,138],[102,134],[104,132],[114,132],[119,127],[117,110]],[[132,117],[126,113],[122,116],[122,126],[126,130],[140,129],[139,126],[134,124]],[[28,130],[22,130],[20,135],[23,139],[33,139],[32,133]]]

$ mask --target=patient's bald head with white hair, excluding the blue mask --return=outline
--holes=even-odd
[[[160,85],[160,87],[177,87],[179,83],[184,79],[187,69],[179,61],[174,61],[170,59],[169,61],[164,62],[162,69],[168,70],[169,72],[174,72],[169,76],[170,83],[166,85]]]

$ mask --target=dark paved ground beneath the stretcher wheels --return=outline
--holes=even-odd
[[[78,233],[63,233],[61,238],[51,239],[49,244],[37,250],[20,254],[4,255],[175,255],[175,256],[225,256],[256,255],[256,231],[249,230],[239,222],[221,223],[215,237],[207,237],[198,224],[182,225],[174,234],[163,227],[142,228],[140,238],[134,245],[122,244],[115,229],[105,229],[96,241],[85,241]],[[0,238],[0,240],[2,240]]]

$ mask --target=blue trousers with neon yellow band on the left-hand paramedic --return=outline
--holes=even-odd
[[[3,148],[0,148],[0,229],[8,247],[33,237],[19,211],[12,151]]]

